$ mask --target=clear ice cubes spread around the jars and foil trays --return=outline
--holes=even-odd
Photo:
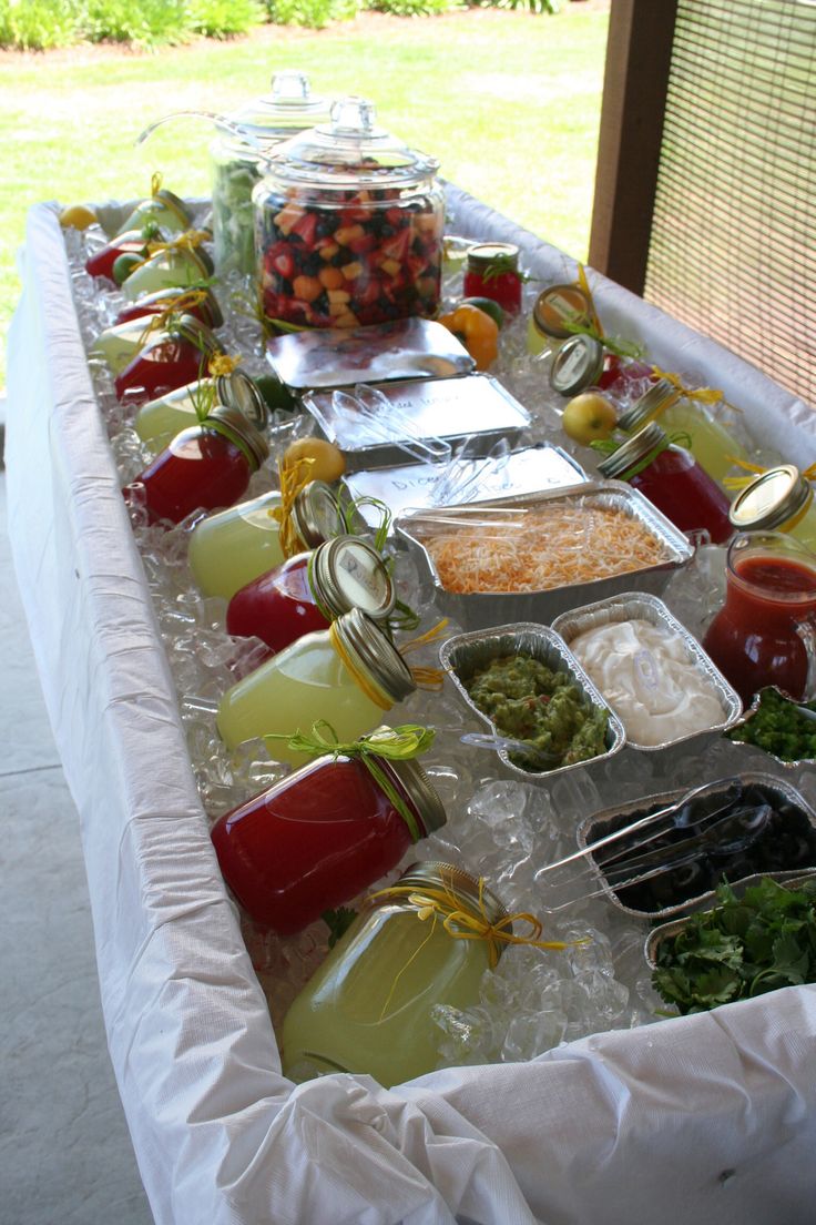
[[[84,272],[89,249],[102,243],[93,230],[66,233],[75,298],[86,345],[109,326],[124,305],[108,283],[95,283]],[[566,270],[565,270],[566,271]],[[461,265],[450,263],[447,294],[455,296]],[[252,294],[236,281],[217,285],[228,317],[221,331],[226,352],[240,354],[250,374],[265,369],[261,330]],[[525,288],[527,309],[541,287]],[[577,447],[559,426],[558,397],[549,392],[546,363],[527,356],[526,317],[502,333],[502,353],[494,374],[533,417],[531,440],[552,441],[593,470],[593,453]],[[144,468],[150,454],[132,429],[132,405],[120,405],[104,366],[92,374],[99,408],[106,421],[122,485]],[[683,374],[683,371],[680,371]],[[248,496],[276,481],[275,458],[292,436],[311,432],[311,419],[280,417],[272,425],[272,456],[252,478]],[[730,426],[750,446],[739,415]],[[159,628],[179,692],[190,760],[203,807],[210,822],[281,778],[285,767],[269,761],[263,745],[250,742],[230,753],[215,731],[214,707],[221,693],[259,660],[262,644],[234,639],[224,630],[225,601],[203,599],[187,567],[187,539],[196,517],[171,530],[147,524],[136,508],[133,530],[147,582],[155,601]],[[396,556],[396,578],[402,599],[422,614],[421,633],[438,621],[431,593],[423,589],[406,554]],[[674,614],[697,636],[722,601],[724,550],[703,546],[666,593]],[[456,632],[449,624],[445,633]],[[434,664],[437,646],[411,657],[411,663]],[[581,864],[543,873],[547,864],[576,849],[576,827],[590,815],[678,786],[695,786],[735,771],[771,771],[768,758],[750,746],[735,746],[718,736],[652,753],[624,748],[608,762],[576,767],[546,782],[520,783],[506,775],[493,751],[461,744],[467,730],[483,730],[460,704],[453,686],[442,693],[417,691],[394,709],[393,723],[423,723],[437,731],[433,748],[423,758],[442,795],[448,822],[417,844],[402,867],[416,859],[461,864],[486,877],[489,887],[513,911],[529,911],[544,925],[546,940],[586,941],[565,952],[510,948],[494,973],[486,973],[477,1007],[460,1012],[438,1007],[439,1066],[529,1060],[560,1042],[614,1028],[656,1020],[659,998],[652,992],[644,959],[646,927],[598,895],[597,880]],[[292,729],[294,730],[294,729]],[[807,793],[807,777],[785,775]],[[389,880],[398,873],[394,872]],[[562,903],[566,899],[566,904]],[[559,909],[555,907],[559,905]],[[548,909],[549,908],[549,909]],[[281,940],[243,919],[253,964],[267,992],[278,1025],[290,1001],[308,979],[327,948],[322,922]]]

